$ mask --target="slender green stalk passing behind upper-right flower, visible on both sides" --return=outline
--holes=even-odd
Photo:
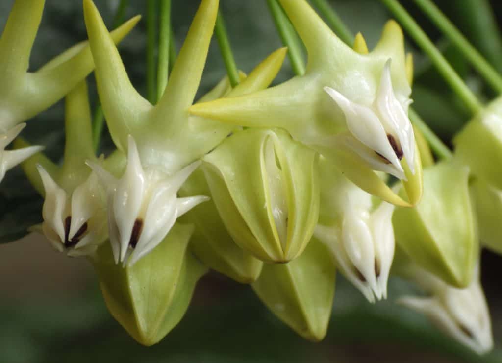
[[[327,2],[324,0],[311,0],[312,3],[317,4],[317,3],[323,3],[322,6],[318,6],[319,12],[326,18],[326,19],[336,19],[337,21],[341,21],[340,17],[338,14],[336,14],[336,11],[329,6]],[[326,5],[326,6],[325,6]],[[340,37],[340,39],[345,42],[347,45],[352,45],[354,42],[354,36],[350,33],[350,31],[343,25],[337,25],[336,27],[330,24],[331,29],[336,33],[337,36]],[[338,32],[342,29],[342,32],[344,32],[343,35],[340,35]],[[418,113],[413,109],[409,108],[408,111],[408,116],[410,117],[410,121],[422,132],[424,135],[425,139],[429,143],[431,149],[433,152],[436,154],[438,158],[441,159],[447,159],[452,156],[452,153],[448,146],[446,146],[441,139],[436,136],[434,131],[432,131],[429,126],[425,123],[424,120],[418,115]]]

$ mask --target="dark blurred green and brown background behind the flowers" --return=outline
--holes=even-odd
[[[248,72],[281,46],[266,2],[220,2],[236,63]],[[118,0],[95,3],[111,26]],[[459,74],[482,99],[490,99],[493,94],[410,3],[404,2]],[[486,42],[472,26],[472,14],[466,14],[464,1],[437,3],[484,51]],[[12,4],[13,0],[0,1],[0,29]],[[178,48],[198,4],[198,0],[173,0],[172,22]],[[383,24],[390,18],[378,0],[338,0],[332,4],[354,33],[362,32],[370,47],[378,41]],[[499,2],[493,1],[492,5],[496,15],[502,12]],[[146,14],[146,2],[130,0],[127,15],[136,14]],[[120,45],[131,80],[143,94],[145,23],[143,19]],[[85,38],[81,2],[47,0],[30,68],[36,70]],[[408,46],[415,55],[414,105],[432,128],[449,141],[467,120],[467,112],[427,59],[411,42]],[[496,44],[486,48],[486,54],[496,61],[494,48]],[[501,69],[502,57],[499,61],[495,66]],[[219,49],[213,41],[199,94],[224,75]],[[286,61],[276,82],[291,76]],[[88,80],[95,105],[93,75]],[[47,154],[58,160],[64,145],[62,103],[30,121],[24,135],[45,145]],[[107,152],[111,147],[109,137],[104,137],[102,151]],[[0,240],[19,238],[28,226],[40,222],[41,206],[42,200],[20,169],[12,170],[0,186]],[[502,346],[501,262],[499,256],[483,253],[482,281],[498,347]],[[311,343],[275,318],[250,288],[210,273],[199,282],[192,306],[181,323],[160,344],[146,348],[130,338],[109,315],[90,264],[83,259],[66,258],[54,252],[43,239],[28,236],[16,243],[0,245],[0,362],[502,362],[499,348],[480,358],[438,332],[421,315],[393,303],[410,291],[413,288],[406,282],[391,279],[388,301],[371,305],[338,277],[328,335],[321,343]]]

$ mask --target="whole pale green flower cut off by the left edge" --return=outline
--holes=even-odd
[[[94,68],[87,42],[79,43],[28,72],[30,54],[40,25],[44,0],[16,0],[0,40],[0,149],[23,128],[17,124],[47,109],[82,81]],[[131,19],[110,34],[118,43],[136,25]],[[8,141],[8,142],[7,142]],[[2,147],[3,146],[3,147]],[[31,156],[35,147],[2,152],[0,181],[5,171]]]

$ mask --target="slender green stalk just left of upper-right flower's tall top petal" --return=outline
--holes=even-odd
[[[303,76],[305,74],[305,62],[303,60],[302,43],[295,28],[277,0],[267,0],[267,4],[276,23],[279,36],[283,44],[288,47],[288,56],[293,72],[298,76]]]

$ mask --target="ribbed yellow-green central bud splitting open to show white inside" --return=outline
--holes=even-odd
[[[214,203],[239,246],[269,262],[302,253],[319,213],[314,151],[279,129],[247,129],[202,160]]]

